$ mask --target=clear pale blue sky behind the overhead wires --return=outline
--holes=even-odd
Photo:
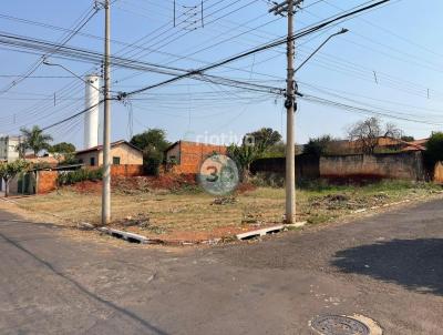
[[[174,27],[173,1],[115,0],[112,51],[115,55],[150,63],[196,69],[282,37],[287,31],[286,19],[269,14],[267,2],[205,0],[202,24],[200,0],[177,0]],[[297,13],[296,30],[365,2],[377,1],[306,0]],[[93,3],[92,0],[4,1],[0,31],[60,42],[66,32],[58,28],[73,28]],[[296,63],[305,60],[330,34],[341,28],[350,30],[329,41],[297,73],[299,91],[393,115],[395,119],[383,116],[383,121],[396,123],[415,138],[426,138],[432,131],[441,130],[442,12],[441,0],[391,0],[387,6],[298,40]],[[102,10],[68,45],[102,52],[103,26]],[[60,68],[40,65],[23,81],[9,77],[25,74],[41,54],[0,45],[0,91],[3,91],[0,92],[0,133],[19,133],[23,125],[43,128],[83,109],[84,84]],[[63,64],[79,75],[100,68],[100,64],[55,55],[49,57],[49,61]],[[257,53],[208,73],[285,88],[285,48]],[[131,91],[168,78],[114,68],[112,90]],[[113,102],[112,113],[113,140],[130,139],[131,134],[147,128],[166,130],[171,141],[216,142],[223,138],[226,142],[261,126],[274,128],[285,135],[280,97],[190,79],[150,90],[124,104]],[[349,124],[368,116],[302,100],[297,113],[297,141],[303,143],[321,134],[344,136]],[[82,148],[83,118],[49,132],[56,142],[73,142]]]

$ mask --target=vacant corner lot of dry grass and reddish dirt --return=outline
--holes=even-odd
[[[34,221],[100,224],[100,184],[78,184],[14,201]],[[441,186],[411,182],[359,187],[316,183],[298,190],[297,221],[321,224],[354,216],[361,209],[439,196],[441,191]],[[280,224],[284,210],[284,189],[243,185],[237,194],[214,197],[189,181],[162,190],[143,179],[120,180],[113,187],[112,226],[165,241],[229,240],[237,233]]]

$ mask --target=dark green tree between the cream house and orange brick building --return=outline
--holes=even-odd
[[[166,132],[162,129],[148,129],[131,139],[131,144],[143,151],[143,164],[150,175],[158,175],[164,161],[164,152],[171,145]]]

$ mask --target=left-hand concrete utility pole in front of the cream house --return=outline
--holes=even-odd
[[[104,119],[103,119],[103,191],[102,224],[111,222],[111,0],[104,0]]]

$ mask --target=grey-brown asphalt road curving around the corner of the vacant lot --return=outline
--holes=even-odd
[[[0,213],[0,334],[443,334],[443,202],[260,243],[112,246]]]

